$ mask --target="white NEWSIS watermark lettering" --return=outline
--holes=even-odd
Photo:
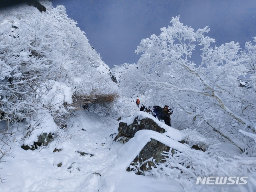
[[[197,177],[196,184],[202,185],[245,185],[247,184],[248,177],[219,177],[219,176],[210,176],[210,177]]]

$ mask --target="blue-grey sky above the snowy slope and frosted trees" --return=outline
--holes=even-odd
[[[102,60],[113,67],[137,63],[134,51],[142,38],[160,34],[172,17],[194,30],[210,27],[216,45],[256,36],[256,0],[54,0],[86,33]]]

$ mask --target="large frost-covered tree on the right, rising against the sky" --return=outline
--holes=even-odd
[[[186,112],[187,118],[208,133],[213,130],[245,148],[237,140],[243,140],[238,130],[252,132],[255,127],[255,102],[251,100],[255,93],[239,86],[238,78],[248,72],[239,44],[212,47],[215,40],[204,35],[208,27],[194,31],[179,17],[170,22],[172,26],[161,28],[159,36],[141,41],[136,50],[142,53],[138,69],[121,81],[124,91],[146,95],[149,104],[172,104],[176,114]],[[197,47],[200,63],[191,58]]]

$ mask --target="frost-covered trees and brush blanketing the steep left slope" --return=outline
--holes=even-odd
[[[109,67],[64,6],[43,3],[45,12],[28,5],[1,12],[1,120],[14,123],[40,110],[59,119],[78,95],[96,102],[116,92]]]

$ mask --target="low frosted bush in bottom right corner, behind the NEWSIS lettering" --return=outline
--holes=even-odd
[[[234,154],[224,152],[219,148],[219,145],[221,144],[209,146],[206,152],[188,149],[183,152],[175,150],[173,154],[170,150],[170,152],[163,153],[166,157],[161,163],[150,158],[142,163],[136,162],[134,166],[130,166],[130,168],[132,168],[136,174],[176,180],[185,191],[196,191],[199,190],[199,188],[207,188],[210,192],[222,192],[226,190],[223,187],[219,188],[218,185],[217,187],[195,185],[198,177],[250,176],[250,179],[247,179],[248,182],[246,185],[239,185],[238,187],[241,191],[253,191],[253,182],[256,179],[256,169],[254,167],[255,158],[241,156],[233,158]],[[152,166],[152,163],[154,166]],[[140,170],[143,164],[146,164],[148,170]],[[149,165],[151,165],[150,168]],[[230,186],[226,187],[228,188]]]

